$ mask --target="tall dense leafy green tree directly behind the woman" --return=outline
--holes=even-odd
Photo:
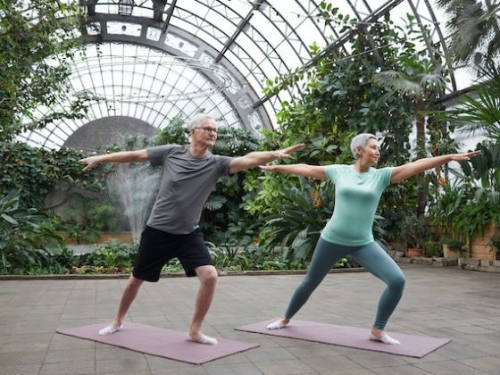
[[[328,13],[330,20],[340,20],[338,22],[350,27],[351,20],[341,16],[337,8],[330,5],[322,2],[321,12]],[[372,51],[366,35],[356,34],[350,51],[355,57],[347,56],[342,48],[334,49],[329,54],[321,54],[308,70],[270,80],[265,90],[268,96],[292,88],[300,91],[300,96],[292,96],[290,101],[281,103],[281,110],[277,113],[279,131],[264,130],[261,148],[274,149],[304,142],[304,150],[283,162],[316,165],[351,163],[349,144],[352,137],[361,132],[371,132],[383,137],[380,166],[409,162],[412,148],[409,135],[417,107],[412,100],[392,88],[373,85],[373,79],[380,71],[411,73],[425,65],[425,61],[415,57],[421,56],[421,51],[417,51],[420,40],[415,37],[421,37],[421,32],[412,29],[411,21],[408,29],[397,29],[387,16],[383,25],[369,27],[379,46],[376,52]],[[317,46],[312,46],[311,51],[317,54]],[[442,80],[442,76],[439,78]],[[421,86],[426,87],[429,76],[422,74],[422,79]],[[448,147],[446,129],[438,124],[434,127],[433,153],[444,149],[445,144]],[[245,181],[246,191],[249,192],[246,210],[264,221],[269,217],[279,220],[279,205],[286,200],[282,192],[289,191],[296,184],[293,176],[248,172]],[[399,235],[404,212],[414,211],[416,196],[414,179],[387,187],[379,204],[379,214],[386,220],[380,221],[377,228],[386,230],[388,238]],[[297,237],[297,246],[307,246],[305,238],[309,237],[311,229],[304,229],[305,226],[301,236]],[[269,230],[264,229],[262,237],[269,237]],[[278,237],[275,240],[278,241]]]

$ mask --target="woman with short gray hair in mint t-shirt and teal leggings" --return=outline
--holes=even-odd
[[[311,296],[333,265],[350,254],[366,271],[387,284],[379,299],[373,328],[368,337],[390,345],[399,341],[384,332],[392,312],[403,295],[404,274],[390,256],[373,240],[371,227],[380,196],[391,183],[408,179],[415,174],[451,161],[467,161],[479,154],[447,154],[409,162],[394,168],[373,168],[379,162],[377,138],[363,133],[353,138],[351,152],[354,165],[315,166],[308,164],[266,165],[263,171],[277,171],[314,179],[330,179],[335,183],[335,209],[314,249],[309,270],[292,296],[283,318],[268,329],[287,327],[292,317]]]

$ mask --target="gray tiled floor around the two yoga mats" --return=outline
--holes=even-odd
[[[204,331],[261,346],[203,365],[55,333],[110,321],[124,279],[0,281],[0,374],[500,374],[500,274],[402,265],[404,296],[387,330],[453,341],[421,359],[257,335],[234,327],[279,317],[302,275],[228,276]],[[196,279],[145,284],[127,319],[185,330]],[[370,327],[383,284],[329,274],[297,319]]]

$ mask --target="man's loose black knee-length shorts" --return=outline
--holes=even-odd
[[[162,267],[172,258],[179,259],[187,277],[196,276],[195,269],[199,266],[213,265],[200,229],[188,234],[171,234],[146,226],[132,274],[137,279],[156,282]]]

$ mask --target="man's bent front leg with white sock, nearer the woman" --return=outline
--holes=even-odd
[[[193,341],[202,344],[217,344],[215,338],[205,336],[201,331],[204,317],[210,308],[210,304],[212,304],[213,294],[215,293],[217,270],[212,265],[205,265],[196,268],[195,271],[200,280],[200,287],[196,295],[195,312],[187,336]]]

